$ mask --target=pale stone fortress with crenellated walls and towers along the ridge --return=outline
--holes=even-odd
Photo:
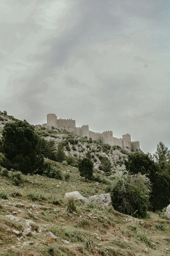
[[[87,138],[91,138],[92,140],[99,140],[103,143],[108,143],[111,146],[120,146],[120,147],[129,147],[134,149],[140,149],[139,141],[131,141],[130,134],[122,135],[122,139],[118,139],[113,137],[112,131],[104,131],[100,132],[93,132],[89,131],[88,125],[83,125],[82,127],[75,126],[75,120],[72,119],[57,119],[55,114],[48,114],[47,115],[47,125],[54,126],[58,129],[63,129],[72,133],[75,133],[81,137],[87,136]]]

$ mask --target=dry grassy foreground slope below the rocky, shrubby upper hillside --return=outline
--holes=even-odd
[[[84,182],[77,168],[61,168],[70,172],[69,181],[27,175],[24,179],[29,180],[16,187],[9,178],[0,178],[1,196],[8,196],[7,200],[0,200],[0,255],[168,255],[165,248],[168,247],[167,226],[170,223],[156,214],[150,213],[150,218],[142,221],[112,211],[111,208],[102,210],[80,203],[77,203],[77,214],[67,214],[65,192],[78,190],[83,196],[89,197],[104,193],[106,185]],[[10,196],[10,193],[15,194],[12,192],[18,192],[20,196]],[[37,194],[37,197],[44,196],[45,200],[32,201],[30,192],[34,196]],[[60,205],[51,203],[51,196]],[[33,204],[40,204],[41,207],[34,209]],[[11,221],[7,214],[18,217],[19,221]],[[24,228],[29,227],[25,219],[35,223],[32,224],[35,232],[22,238]],[[157,229],[157,224],[164,226],[164,230]],[[40,233],[39,227],[42,228]],[[13,229],[20,231],[20,234],[13,233]],[[51,240],[47,230],[68,240],[70,244],[65,244],[61,239]],[[33,244],[24,246],[25,241],[32,241]]]

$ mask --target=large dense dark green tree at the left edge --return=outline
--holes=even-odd
[[[39,152],[39,136],[27,122],[6,123],[2,131],[1,150],[8,159],[6,168],[22,173],[33,173],[39,168],[44,157]]]

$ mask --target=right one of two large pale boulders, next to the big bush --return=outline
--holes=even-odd
[[[109,193],[95,195],[95,196],[89,197],[88,200],[94,204],[101,205],[103,208],[107,207],[109,204],[112,203],[112,199]]]

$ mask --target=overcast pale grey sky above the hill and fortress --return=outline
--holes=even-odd
[[[0,110],[170,148],[169,0],[1,0]]]

